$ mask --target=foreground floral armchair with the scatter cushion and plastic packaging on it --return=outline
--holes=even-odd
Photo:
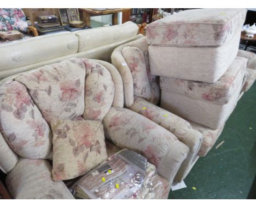
[[[52,132],[51,120],[56,118],[102,121],[105,137],[117,145],[106,142],[108,154],[119,148],[135,150],[172,183],[189,148],[170,131],[123,108],[123,95],[117,69],[86,58],[63,60],[0,81],[0,169],[7,174],[11,197],[73,199],[68,186],[52,176],[56,180],[67,174],[65,164],[55,166],[53,161],[56,168],[51,166],[54,152],[60,151],[53,149],[53,134],[66,138],[62,129]],[[96,134],[89,129],[84,132]],[[84,148],[86,144],[68,142],[73,160],[78,160],[78,154],[95,154],[94,148]],[[72,165],[82,171],[79,163]]]

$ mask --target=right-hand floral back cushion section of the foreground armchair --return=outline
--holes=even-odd
[[[109,71],[94,60],[82,59],[86,68],[85,108],[86,120],[102,120],[114,100],[115,86]]]

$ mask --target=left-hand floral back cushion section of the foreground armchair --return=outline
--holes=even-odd
[[[16,154],[47,158],[51,151],[51,130],[34,105],[26,87],[7,81],[0,87],[1,131]]]

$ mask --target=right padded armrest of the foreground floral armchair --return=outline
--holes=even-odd
[[[106,138],[145,156],[170,182],[189,152],[171,132],[129,109],[110,108],[103,126]]]

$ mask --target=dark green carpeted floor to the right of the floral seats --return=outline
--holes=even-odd
[[[250,195],[255,199],[255,138],[256,83],[238,101],[208,155],[200,157],[185,178],[187,188],[171,191],[168,198],[246,199]],[[216,149],[223,140],[225,142]]]

